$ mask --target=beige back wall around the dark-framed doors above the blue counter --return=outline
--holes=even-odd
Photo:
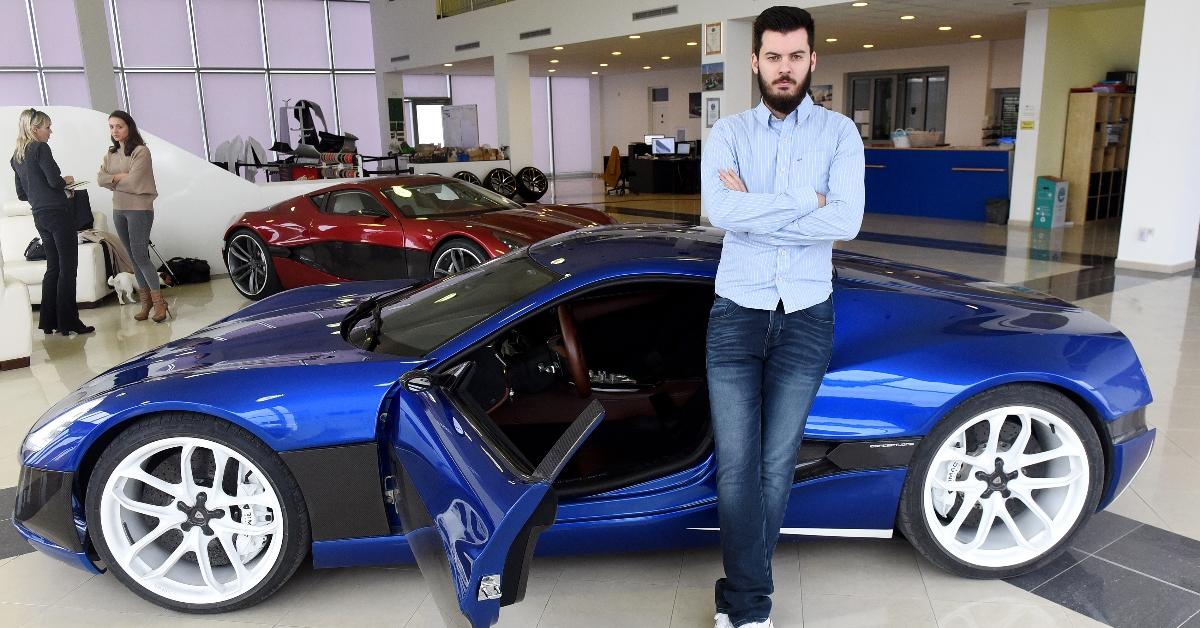
[[[948,67],[944,140],[956,146],[978,146],[983,143],[980,131],[991,108],[991,43],[986,41],[844,54],[823,54],[817,46],[812,84],[833,85],[833,109],[846,113],[848,73]]]

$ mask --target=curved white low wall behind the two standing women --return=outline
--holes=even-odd
[[[17,120],[25,107],[0,107],[0,137],[17,137]],[[50,149],[62,174],[92,181],[91,208],[113,225],[113,193],[95,185],[100,161],[112,145],[108,114],[80,107],[38,107],[50,115]],[[212,273],[223,273],[221,245],[226,228],[244,213],[262,209],[338,181],[252,184],[161,137],[143,131],[154,156],[154,231],[150,234],[163,257],[206,259]],[[17,198],[13,178],[0,177],[0,202]]]

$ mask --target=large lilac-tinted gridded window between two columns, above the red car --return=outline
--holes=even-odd
[[[103,1],[119,100],[146,131],[198,155],[235,137],[270,146],[296,126],[280,108],[308,100],[329,132],[382,152],[367,0]]]

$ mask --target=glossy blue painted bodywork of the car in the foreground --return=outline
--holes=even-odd
[[[378,441],[395,445],[424,506],[446,522],[440,537],[427,540],[444,549],[446,526],[457,521],[463,531],[502,539],[499,548],[505,536],[515,534],[506,526],[521,516],[514,509],[520,504],[528,512],[534,500],[529,496],[542,490],[533,485],[540,484],[505,469],[481,445],[476,426],[444,400],[430,393],[398,393],[397,378],[416,367],[451,365],[463,351],[530,312],[614,281],[710,285],[720,238],[720,232],[709,228],[641,226],[584,229],[539,243],[527,255],[560,273],[559,281],[421,358],[362,352],[340,335],[340,323],[352,307],[374,291],[400,285],[288,291],[88,382],[38,425],[90,399],[100,399],[96,407],[25,462],[77,471],[85,450],[108,430],[146,413],[176,409],[234,421],[276,450]],[[960,401],[1012,382],[1060,388],[1104,420],[1151,401],[1128,340],[1070,304],[868,256],[839,252],[835,268],[834,358],[814,403],[808,438],[920,436]],[[389,409],[391,417],[384,431],[379,430],[380,409]],[[462,444],[466,435],[474,438],[470,447]],[[1114,448],[1114,480],[1105,500],[1128,482],[1152,438],[1151,431]],[[712,467],[709,457],[670,477],[565,501],[559,504],[558,524],[542,536],[539,550],[611,551],[715,542],[710,532],[688,530],[715,527]],[[904,473],[845,473],[805,483],[796,489],[786,525],[890,527]],[[82,520],[83,513],[76,516]],[[318,566],[404,560],[410,556],[407,540],[397,536],[322,542],[313,546],[314,560]],[[488,554],[486,546],[455,546],[456,560],[469,558],[474,566],[457,593],[478,590],[474,575],[499,569],[503,557]],[[476,610],[484,618],[491,612]]]

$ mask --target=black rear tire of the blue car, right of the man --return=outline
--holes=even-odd
[[[937,542],[929,528],[926,519],[923,516],[924,500],[929,497],[924,495],[923,486],[930,462],[948,438],[955,435],[972,418],[979,417],[989,409],[1006,406],[1027,406],[1046,411],[1057,415],[1072,427],[1079,436],[1087,454],[1087,495],[1075,522],[1055,545],[1037,557],[1020,564],[985,567],[960,560],[958,556],[948,552]],[[1009,425],[1009,420],[1006,419],[1003,424],[1006,427]],[[1030,451],[1030,447],[1037,445],[1030,444],[1025,451]],[[922,439],[908,465],[908,476],[905,479],[904,490],[900,495],[900,508],[896,518],[898,527],[922,556],[949,573],[976,579],[1014,578],[1044,567],[1069,546],[1072,539],[1084,527],[1099,504],[1104,484],[1104,451],[1096,427],[1084,411],[1070,399],[1050,388],[1036,384],[1013,384],[986,390],[954,408]],[[1009,501],[1006,500],[1004,503],[1008,504]],[[958,506],[958,508],[961,508],[961,506]],[[1008,506],[1004,508],[1008,509]],[[1009,513],[1012,514],[1010,510]],[[968,514],[967,519],[970,520],[971,516]]]

